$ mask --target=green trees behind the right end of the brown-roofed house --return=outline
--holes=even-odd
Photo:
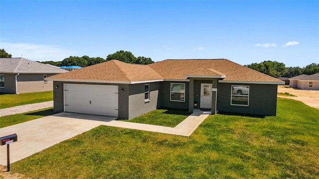
[[[266,75],[278,78],[287,77],[292,78],[299,75],[313,75],[319,73],[319,64],[312,63],[304,68],[300,67],[286,67],[284,63],[276,61],[264,61],[261,63],[252,63],[250,65],[244,65],[245,67],[251,68],[258,72]]]

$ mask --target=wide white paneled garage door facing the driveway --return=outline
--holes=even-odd
[[[64,84],[64,111],[118,117],[118,86]]]

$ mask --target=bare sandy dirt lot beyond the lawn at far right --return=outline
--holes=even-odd
[[[319,109],[319,90],[305,90],[305,89],[294,89],[289,86],[278,86],[278,92],[289,92],[295,96],[284,96],[278,94],[279,97],[295,99],[304,102],[305,104]]]

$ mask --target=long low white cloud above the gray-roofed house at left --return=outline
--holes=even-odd
[[[14,58],[23,57],[33,61],[62,61],[69,56],[75,56],[74,51],[63,49],[56,45],[42,45],[30,43],[1,42],[1,49]]]

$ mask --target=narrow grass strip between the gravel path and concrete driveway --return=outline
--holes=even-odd
[[[0,117],[0,128],[54,114],[53,107]]]

